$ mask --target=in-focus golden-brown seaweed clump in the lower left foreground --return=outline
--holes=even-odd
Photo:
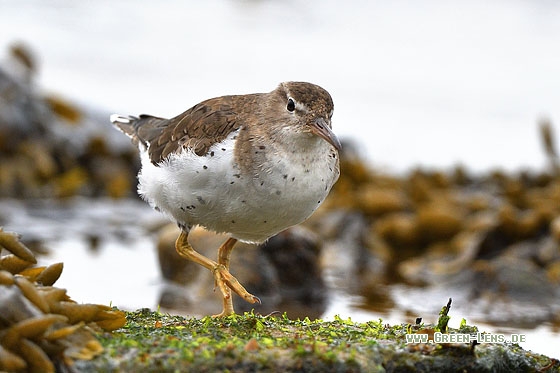
[[[12,232],[0,228],[0,370],[54,372],[75,359],[103,351],[94,330],[122,327],[122,311],[78,304],[53,287],[63,265],[35,266],[37,260]]]

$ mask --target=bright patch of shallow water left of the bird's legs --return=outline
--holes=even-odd
[[[156,309],[163,280],[155,237],[167,223],[139,200],[0,200],[0,226],[41,242],[39,265],[63,262],[57,287],[79,303]]]

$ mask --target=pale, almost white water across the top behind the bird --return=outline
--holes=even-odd
[[[554,1],[0,0],[0,50],[27,42],[39,84],[107,112],[176,115],[307,80],[377,167],[541,168],[560,121]],[[558,128],[558,126],[557,126]]]

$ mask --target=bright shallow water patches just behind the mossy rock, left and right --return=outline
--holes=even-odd
[[[77,302],[111,304],[127,310],[158,309],[165,283],[159,272],[155,234],[151,232],[166,222],[139,200],[78,198],[63,204],[0,200],[0,225],[4,230],[20,233],[24,242],[42,242],[48,255],[40,256],[40,264],[64,262],[56,286],[67,289]],[[434,323],[449,297],[445,292],[394,285],[388,287],[394,306],[375,304],[365,308],[361,297],[348,294],[336,282],[329,275],[331,292],[325,319],[340,315],[359,322],[381,318],[400,324],[413,323],[420,316],[424,322]],[[481,313],[461,308],[460,298],[454,299],[450,316],[452,327],[458,327],[464,317],[482,331],[506,337],[525,334],[527,342],[520,343],[523,348],[560,358],[558,326],[543,323],[523,329],[489,325]]]

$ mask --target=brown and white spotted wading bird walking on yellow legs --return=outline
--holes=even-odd
[[[336,183],[333,110],[322,87],[283,82],[268,93],[211,98],[171,119],[111,115],[138,146],[139,195],[179,226],[177,253],[212,272],[223,304],[213,316],[235,314],[232,292],[261,302],[229,271],[236,242],[262,243],[302,223]],[[197,225],[228,235],[217,261],[189,244]]]

